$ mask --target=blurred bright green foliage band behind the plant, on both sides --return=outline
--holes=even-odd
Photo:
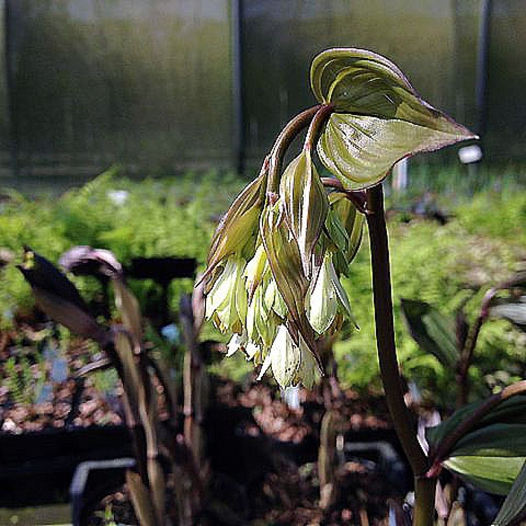
[[[244,178],[216,172],[140,183],[117,172],[109,170],[60,196],[28,198],[7,192],[0,213],[0,246],[11,249],[18,258],[22,245],[28,244],[56,262],[73,245],[92,245],[114,251],[124,264],[136,256],[176,255],[195,257],[202,268],[217,221],[246,184]],[[523,174],[519,167],[508,167],[505,177],[495,170],[483,170],[473,192],[467,184],[471,176],[463,169],[419,168],[411,176],[408,191],[389,192],[393,296],[402,368],[409,379],[417,381],[424,396],[441,393],[444,405],[452,401],[454,371],[444,369],[414,343],[402,320],[400,299],[427,301],[451,316],[469,300],[468,318],[477,315],[484,291],[509,277],[526,260]],[[496,180],[500,181],[497,188]],[[120,204],[114,201],[118,191],[127,193]],[[422,209],[427,215],[418,213]],[[448,219],[445,225],[430,219],[431,212],[437,211]],[[351,333],[350,328],[344,328],[336,356],[343,386],[380,389],[367,245],[364,236],[351,276],[344,279],[361,329]],[[75,281],[88,300],[97,294],[95,282]],[[172,287],[174,316],[180,293],[189,292],[192,285],[191,280],[185,280]],[[131,287],[145,311],[151,302],[158,301],[153,282],[132,281]],[[8,327],[13,316],[31,306],[31,293],[22,276],[7,266],[0,281],[2,325]],[[211,327],[205,336],[225,339]],[[471,369],[474,394],[487,392],[495,382],[508,383],[520,376],[526,363],[525,349],[524,334],[508,323],[485,324],[476,350],[477,367]],[[215,372],[238,380],[249,370],[242,356],[214,366]],[[496,377],[495,371],[500,371]]]

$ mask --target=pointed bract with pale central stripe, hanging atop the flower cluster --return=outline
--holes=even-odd
[[[294,159],[281,177],[279,195],[289,229],[298,242],[305,275],[312,274],[312,252],[329,210],[329,201],[310,151]]]

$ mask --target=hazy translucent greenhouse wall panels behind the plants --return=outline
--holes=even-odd
[[[487,0],[486,0],[487,1]],[[524,158],[526,0],[491,4],[487,156]],[[254,168],[332,46],[396,62],[477,130],[483,0],[3,0],[2,174]],[[238,38],[239,37],[239,38]]]

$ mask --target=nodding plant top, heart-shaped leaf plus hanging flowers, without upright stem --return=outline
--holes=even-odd
[[[211,243],[206,315],[270,368],[281,387],[311,387],[322,374],[317,340],[336,333],[351,306],[340,276],[359,248],[363,189],[398,159],[473,137],[429,106],[389,60],[330,49],[311,67],[319,106],[293,119],[259,176],[235,200]],[[291,139],[308,126],[299,155],[282,171]],[[334,178],[320,178],[313,158]],[[356,325],[356,323],[355,323]]]

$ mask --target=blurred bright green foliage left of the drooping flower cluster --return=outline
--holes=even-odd
[[[240,178],[218,173],[138,183],[109,170],[58,198],[11,193],[0,212],[0,247],[18,256],[27,244],[51,261],[74,245],[91,245],[112,250],[124,265],[132,257],[164,255],[196,257],[203,263],[220,214],[243,184]],[[124,204],[116,205],[110,198],[108,192],[115,189],[128,192]],[[93,279],[74,280],[88,301],[97,294]],[[143,306],[156,296],[151,282],[131,286]],[[191,287],[191,280],[186,280],[174,284],[171,292],[178,298],[181,290]],[[0,282],[2,322],[32,304],[22,276],[14,267],[6,268]]]

